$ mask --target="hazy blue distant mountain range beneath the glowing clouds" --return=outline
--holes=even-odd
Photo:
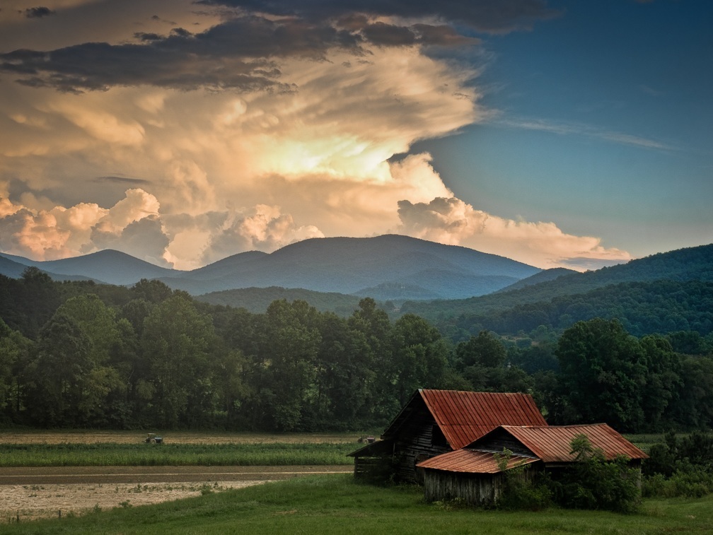
[[[408,287],[404,297],[411,299],[465,298],[489,294],[541,271],[503,256],[393,234],[307,239],[272,254],[235,254],[193,271],[162,268],[111,250],[43,262],[3,256],[34,265],[54,279],[83,276],[121,285],[159,279],[193,295],[269,286],[364,295],[386,285],[381,290]],[[17,276],[16,268],[10,271],[5,273],[0,265],[0,273]]]

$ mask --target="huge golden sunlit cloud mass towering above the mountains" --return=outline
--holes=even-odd
[[[497,33],[552,16],[508,3],[522,8],[513,19],[474,8],[461,23],[480,16]],[[111,248],[193,269],[310,237],[401,232],[541,267],[629,258],[553,223],[486,214],[454,197],[430,155],[409,155],[489,115],[477,71],[430,53],[478,44],[434,24],[435,8],[409,19],[405,3],[371,16],[335,4],[315,20],[280,18],[293,4],[279,4],[269,18],[186,12],[202,26],[162,33],[146,16],[116,44],[0,50],[0,127],[11,125],[0,128],[0,249]],[[43,21],[65,13],[53,6]]]

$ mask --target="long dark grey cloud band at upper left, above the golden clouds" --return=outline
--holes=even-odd
[[[156,85],[193,90],[291,90],[279,81],[279,58],[323,60],[329,48],[363,53],[362,38],[332,26],[279,23],[245,16],[202,33],[174,28],[167,37],[138,34],[143,43],[82,43],[54,51],[0,54],[0,72],[31,87],[106,90],[113,85]]]

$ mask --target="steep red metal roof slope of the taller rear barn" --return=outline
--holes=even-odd
[[[499,425],[547,425],[529,394],[426,389],[419,393],[453,450]]]

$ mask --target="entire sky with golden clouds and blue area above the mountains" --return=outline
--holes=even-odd
[[[713,241],[707,0],[1,0],[0,251]]]

